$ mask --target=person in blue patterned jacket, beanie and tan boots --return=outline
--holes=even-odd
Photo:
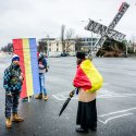
[[[11,65],[5,69],[3,76],[3,87],[5,89],[5,125],[8,128],[12,126],[12,121],[23,121],[17,114],[23,79],[23,74],[20,67],[20,57],[14,54]],[[13,118],[11,118],[11,112],[13,113]]]

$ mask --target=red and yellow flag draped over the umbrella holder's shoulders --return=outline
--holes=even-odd
[[[84,60],[76,71],[73,84],[85,91],[95,92],[100,89],[103,83],[101,74],[97,71],[90,60]]]

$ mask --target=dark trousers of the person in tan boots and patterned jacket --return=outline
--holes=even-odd
[[[12,96],[5,92],[5,118],[10,118],[11,113],[17,113],[20,91],[12,92]]]

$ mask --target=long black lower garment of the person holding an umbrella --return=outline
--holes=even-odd
[[[83,128],[97,127],[96,99],[90,102],[78,101],[76,124]]]

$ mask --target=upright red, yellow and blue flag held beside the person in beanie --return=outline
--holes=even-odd
[[[37,46],[35,38],[13,39],[14,53],[20,55],[20,64],[24,75],[21,98],[38,94],[39,71]]]

